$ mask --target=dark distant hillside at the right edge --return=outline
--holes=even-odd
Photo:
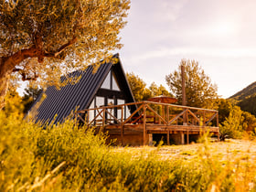
[[[238,101],[237,105],[240,106],[242,111],[256,115],[256,81],[232,95],[229,99]]]

